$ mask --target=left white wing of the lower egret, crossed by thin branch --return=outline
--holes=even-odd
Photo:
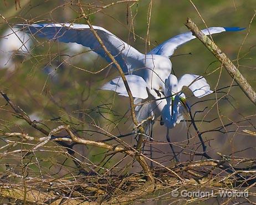
[[[149,95],[147,94],[147,83],[141,76],[137,75],[126,75],[126,80],[134,98],[146,99]],[[121,77],[117,77],[105,85],[101,86],[101,90],[115,91],[119,95],[128,97],[128,93],[125,88],[125,84]]]

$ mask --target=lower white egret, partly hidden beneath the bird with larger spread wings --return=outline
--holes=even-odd
[[[151,89],[151,86],[146,81],[137,75],[126,75],[127,83],[130,87],[132,96],[136,99],[150,99],[152,102],[147,103],[148,112],[146,115],[151,115],[155,119],[161,115],[161,122],[167,127],[166,139],[175,155],[176,161],[178,158],[171,145],[169,137],[169,129],[172,129],[176,124],[183,119],[182,105],[187,107],[186,96],[182,93],[183,86],[187,86],[197,98],[202,98],[212,93],[206,79],[199,75],[185,74],[180,79],[175,75],[170,74],[165,80],[163,92],[156,89]],[[100,89],[115,91],[119,95],[128,96],[124,82],[121,77],[117,77]],[[189,108],[188,108],[189,109]]]

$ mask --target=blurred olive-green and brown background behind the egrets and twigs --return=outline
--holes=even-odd
[[[73,2],[75,3],[76,1]],[[92,13],[100,9],[100,7],[94,8],[93,6],[104,6],[112,1],[81,2],[85,6],[85,12]],[[187,17],[190,17],[199,28],[206,27],[190,1],[152,1],[149,27],[151,45],[148,45],[145,43],[145,39],[147,37],[150,2],[117,3],[100,9],[99,12],[90,16],[90,20],[94,25],[104,27],[117,35],[117,37],[129,42],[141,53],[148,52],[155,45],[174,35],[187,32],[188,29],[184,25]],[[242,32],[215,34],[213,39],[230,59],[239,58],[238,61],[234,61],[234,64],[239,65],[240,72],[255,88],[255,20],[250,24],[255,14],[255,0],[198,0],[193,1],[193,3],[208,27],[247,28]],[[21,8],[18,6],[16,10],[15,7],[14,1],[0,2],[0,13],[10,25],[26,21],[29,23],[85,23],[82,18],[78,18],[80,17],[78,7],[71,5],[70,1],[21,1]],[[0,22],[1,35],[7,29],[7,24],[3,19]],[[132,34],[132,26],[136,35]],[[88,131],[100,130],[91,124],[98,125],[112,135],[122,135],[132,131],[133,126],[129,119],[129,99],[115,96],[111,92],[98,90],[101,85],[117,76],[117,71],[114,68],[107,68],[99,74],[90,74],[83,70],[95,72],[104,68],[107,65],[104,59],[90,52],[86,53],[86,49],[76,53],[79,54],[77,57],[69,58],[70,45],[48,42],[45,39],[38,38],[33,39],[33,42],[33,49],[25,60],[21,61],[20,58],[14,56],[16,58],[14,59],[16,61],[16,69],[12,71],[8,69],[0,70],[1,89],[17,105],[22,107],[33,120],[38,120],[47,125],[49,130],[61,124],[70,124],[76,130],[87,130],[80,131],[78,134],[81,137],[92,140],[106,139],[106,136]],[[177,76],[185,73],[207,75],[220,66],[220,63],[197,39],[183,45],[175,52],[175,54],[187,53],[192,53],[192,55],[180,55],[171,58],[173,71]],[[70,60],[71,65],[65,63],[63,59]],[[55,69],[54,75],[45,74],[45,66]],[[214,71],[206,79],[213,90],[232,84],[232,79],[224,68]],[[228,90],[229,88],[226,88],[222,91],[227,92]],[[233,123],[221,129],[224,133],[211,131],[203,134],[204,139],[210,141],[207,143],[207,148],[210,150],[209,153],[215,158],[219,158],[217,152],[227,155],[254,157],[255,137],[243,134],[242,130],[255,130],[253,126],[255,123],[255,105],[249,101],[238,86],[230,88],[229,95],[221,98],[223,95],[224,93],[213,93],[203,99],[211,100],[199,102],[192,106],[193,112],[204,110],[207,107],[206,110],[196,115],[197,125],[201,132]],[[191,105],[199,101],[193,97],[188,100]],[[42,136],[23,120],[4,111],[9,107],[5,106],[6,102],[2,98],[0,103],[2,107],[0,110],[1,130],[4,132],[24,131],[32,136]],[[202,119],[208,121],[216,120],[200,122]],[[187,143],[188,125],[189,122],[182,123],[171,131],[173,142],[179,142],[182,146]],[[157,141],[165,142],[165,134],[165,127],[156,122],[154,138]],[[193,129],[190,130],[190,134],[195,136]],[[124,140],[133,144],[135,143],[133,138],[128,136]],[[195,150],[198,146],[195,145],[196,142],[198,142],[197,137],[192,137],[190,146],[184,152],[190,153],[191,150]],[[177,151],[181,150],[180,146],[175,146],[175,148]],[[96,150],[93,147],[77,146],[76,149],[81,155],[93,162],[99,162],[104,156],[104,154],[97,155],[104,152],[103,150]],[[238,152],[240,150],[243,151]],[[161,159],[158,159],[159,162],[168,165],[170,163],[169,153],[170,148],[168,145],[163,145],[162,143],[155,145],[154,156],[162,156]],[[186,154],[181,155],[181,160],[194,160],[196,158],[199,159],[199,157],[190,157]],[[86,159],[81,157],[81,160]],[[115,160],[118,160],[118,157]],[[115,163],[115,160],[111,160],[110,163]],[[124,160],[123,164],[125,165],[125,163],[127,161]],[[140,167],[137,168],[140,170]],[[134,171],[136,171],[136,168],[134,168]]]

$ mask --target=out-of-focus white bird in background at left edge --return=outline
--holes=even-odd
[[[14,55],[26,55],[32,46],[32,39],[18,28],[8,28],[0,40],[0,68],[14,70]]]

